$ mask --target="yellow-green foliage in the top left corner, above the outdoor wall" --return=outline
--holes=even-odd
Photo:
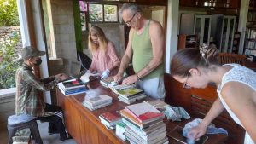
[[[20,26],[17,0],[0,0],[0,26]]]

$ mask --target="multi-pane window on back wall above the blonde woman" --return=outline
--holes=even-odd
[[[79,1],[82,31],[88,30],[88,23],[118,22],[116,4],[86,3]]]

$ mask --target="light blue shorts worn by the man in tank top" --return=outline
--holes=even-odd
[[[137,87],[143,89],[146,95],[154,99],[163,100],[166,96],[164,76],[137,81]]]

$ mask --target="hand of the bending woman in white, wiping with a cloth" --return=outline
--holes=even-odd
[[[207,132],[207,125],[201,123],[189,131],[188,137],[189,139],[196,140],[200,138],[202,135],[205,135],[206,132]]]

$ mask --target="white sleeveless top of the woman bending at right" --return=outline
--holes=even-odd
[[[233,68],[229,72],[226,72],[224,74],[221,83],[218,84],[218,89],[217,89],[218,97],[222,102],[223,106],[225,107],[225,109],[230,113],[231,118],[233,118],[237,124],[240,124],[243,127],[243,125],[241,124],[241,121],[236,117],[236,114],[230,110],[230,107],[226,104],[226,102],[222,98],[221,89],[224,87],[224,84],[233,81],[233,82],[239,82],[241,84],[246,84],[247,86],[251,87],[256,91],[256,72],[248,69],[247,67],[237,65],[237,64],[226,64],[226,65],[233,66]],[[253,140],[247,133],[245,136],[244,143],[253,144]]]

